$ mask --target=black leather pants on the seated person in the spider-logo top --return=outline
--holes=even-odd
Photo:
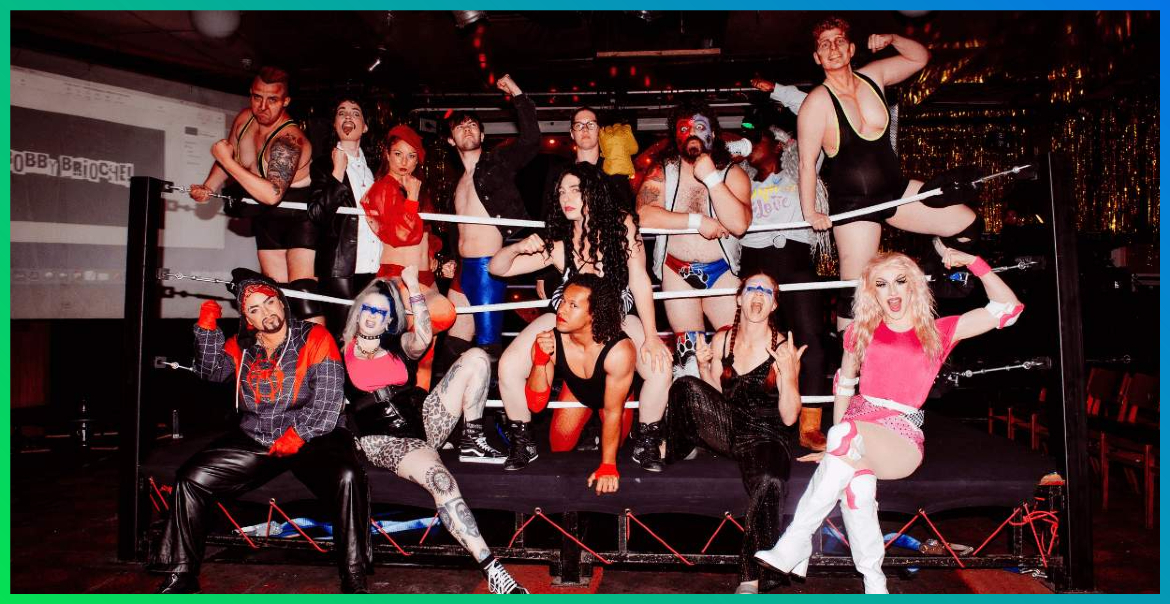
[[[338,565],[365,572],[371,561],[370,485],[353,437],[337,428],[308,442],[295,455],[277,458],[268,447],[233,431],[188,459],[174,481],[174,497],[151,570],[199,572],[208,508],[253,490],[285,471],[332,507]]]

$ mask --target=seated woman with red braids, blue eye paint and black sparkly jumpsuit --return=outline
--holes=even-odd
[[[686,459],[702,444],[739,464],[751,503],[736,593],[759,592],[759,567],[751,555],[780,535],[792,424],[800,414],[800,357],[807,346],[797,349],[791,331],[785,338],[771,325],[778,296],[776,281],[764,273],[744,280],[735,323],[717,331],[710,345],[706,337],[697,339],[702,378],[679,378],[666,414],[667,461]]]

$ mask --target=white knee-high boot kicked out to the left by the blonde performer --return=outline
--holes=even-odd
[[[756,560],[782,572],[805,576],[812,556],[812,535],[837,506],[841,489],[852,478],[853,466],[835,455],[826,455],[800,495],[792,522],[776,547],[757,551]]]

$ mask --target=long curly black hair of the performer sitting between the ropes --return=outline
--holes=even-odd
[[[614,194],[612,184],[605,172],[589,162],[572,164],[564,169],[557,177],[557,186],[549,192],[548,207],[556,208],[549,212],[544,228],[544,249],[552,253],[552,245],[562,241],[565,249],[573,249],[573,224],[565,213],[560,212],[559,194],[560,180],[566,174],[572,174],[580,180],[581,201],[585,212],[585,222],[581,225],[581,236],[589,241],[589,249],[593,254],[585,261],[598,260],[597,253],[601,253],[605,262],[606,279],[614,280],[615,283],[629,281],[629,234],[626,231],[626,217],[634,220],[634,229],[638,229],[638,214],[631,213],[624,207],[620,198]],[[576,253],[573,254],[577,255]]]

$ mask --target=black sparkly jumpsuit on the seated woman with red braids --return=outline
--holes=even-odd
[[[723,363],[732,366],[735,354]],[[751,497],[739,552],[741,582],[762,578],[752,555],[771,548],[780,537],[791,447],[797,434],[796,426],[785,426],[780,420],[776,386],[766,385],[771,368],[772,359],[768,358],[742,376],[731,369],[730,377],[723,379],[722,393],[698,378],[680,378],[670,386],[666,413],[667,462],[679,461],[703,445],[739,464],[743,487]],[[760,581],[760,591],[765,589]]]

